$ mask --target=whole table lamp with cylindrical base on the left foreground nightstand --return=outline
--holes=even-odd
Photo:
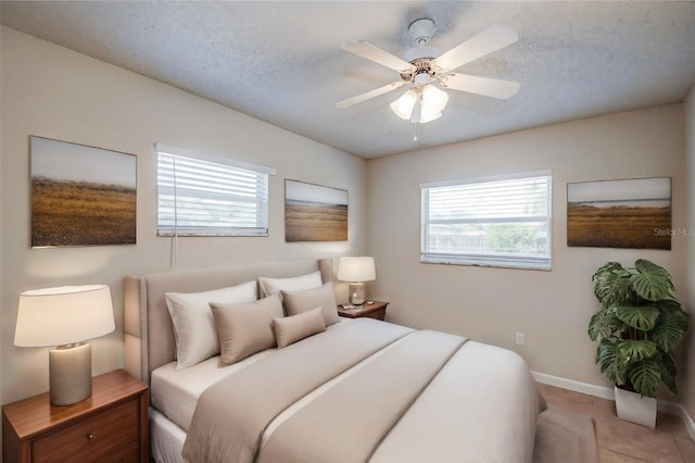
[[[108,286],[35,289],[20,295],[14,345],[58,346],[49,351],[51,404],[70,405],[91,396],[91,345],[85,341],[114,329]]]

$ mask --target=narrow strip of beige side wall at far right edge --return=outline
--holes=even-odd
[[[693,235],[687,237],[686,258],[684,259],[687,265],[687,279],[683,293],[687,295],[690,301],[691,333],[684,347],[684,358],[688,361],[681,368],[679,390],[681,403],[695,420],[695,88],[691,90],[685,100],[685,166],[687,177],[685,230]]]

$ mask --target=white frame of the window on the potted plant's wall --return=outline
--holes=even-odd
[[[531,179],[546,177],[546,213],[535,216],[526,216],[516,220],[514,216],[504,216],[495,218],[471,217],[453,220],[459,224],[475,223],[530,223],[542,222],[547,227],[547,256],[515,255],[515,254],[491,254],[475,252],[432,252],[429,250],[429,193],[433,188],[453,187],[473,184],[491,184],[504,180]],[[420,262],[433,264],[453,264],[453,265],[473,265],[473,266],[491,266],[502,268],[523,268],[523,270],[552,270],[552,251],[553,251],[553,173],[551,170],[519,172],[505,175],[467,177],[459,179],[448,179],[441,182],[429,182],[419,185],[420,188]],[[516,218],[519,218],[518,216]]]

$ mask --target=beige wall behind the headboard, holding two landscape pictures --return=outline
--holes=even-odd
[[[270,236],[181,238],[177,268],[364,252],[364,160],[7,27],[1,41],[2,403],[48,389],[47,350],[13,346],[17,299],[26,289],[110,285],[116,330],[94,340],[93,373],[123,365],[122,278],[169,268],[169,240],[156,237],[155,141],[277,168]],[[29,248],[29,135],[138,157],[136,246]],[[285,178],[349,190],[349,241],[286,243]]]

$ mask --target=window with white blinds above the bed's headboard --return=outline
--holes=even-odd
[[[156,145],[157,235],[267,236],[275,170]]]

